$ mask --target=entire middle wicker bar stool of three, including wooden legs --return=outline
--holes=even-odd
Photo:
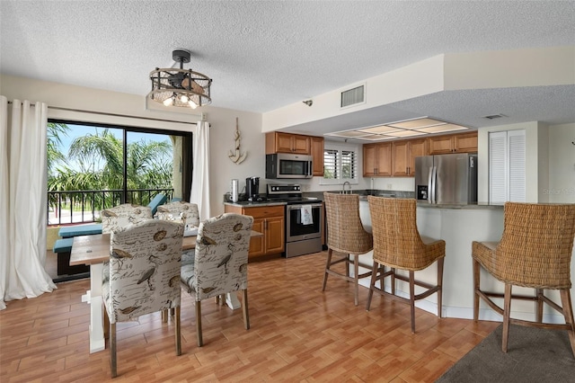
[[[415,333],[415,301],[438,293],[438,316],[441,317],[443,261],[446,255],[446,242],[422,238],[417,229],[415,200],[399,198],[367,197],[369,214],[374,234],[374,265],[367,296],[367,311],[374,291],[387,297],[407,301],[411,307],[411,333]],[[425,240],[425,242],[424,242]],[[415,272],[426,269],[438,262],[438,282],[431,285],[415,280]],[[391,271],[385,271],[385,267]],[[395,269],[409,271],[409,277],[397,274]],[[384,279],[391,277],[391,294],[385,291]],[[380,280],[376,287],[377,279]],[[395,295],[395,280],[407,281],[410,285],[410,298]],[[424,288],[415,294],[415,286]]]

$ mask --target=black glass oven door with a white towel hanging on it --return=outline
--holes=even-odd
[[[311,211],[306,211],[310,208]],[[288,205],[286,207],[286,242],[322,236],[322,204]]]

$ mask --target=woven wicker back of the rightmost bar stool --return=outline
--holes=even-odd
[[[575,204],[506,202],[493,274],[541,289],[571,289]]]

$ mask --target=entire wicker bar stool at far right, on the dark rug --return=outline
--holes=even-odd
[[[503,316],[501,350],[507,352],[509,323],[567,330],[575,356],[575,327],[571,307],[571,252],[575,236],[575,204],[506,202],[505,224],[499,243],[473,241],[473,319],[479,318],[479,298]],[[480,265],[505,283],[505,293],[480,286]],[[535,289],[535,295],[512,294],[512,286]],[[562,306],[544,296],[545,289],[559,290]],[[503,298],[503,308],[491,298]],[[535,322],[511,318],[511,299],[533,300]],[[544,303],[562,313],[565,324],[543,322]]]

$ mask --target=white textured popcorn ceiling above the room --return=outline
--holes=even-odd
[[[575,1],[0,0],[0,13],[3,74],[144,96],[183,48],[213,106],[257,112],[442,53],[575,45]],[[429,94],[293,130],[425,115],[479,128],[497,113],[575,121],[575,85]]]

